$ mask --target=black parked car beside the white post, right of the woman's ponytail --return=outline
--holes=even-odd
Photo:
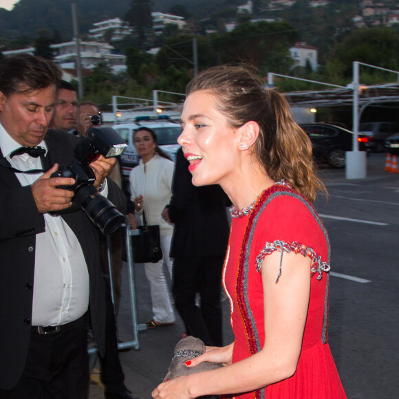
[[[307,123],[301,125],[305,133],[312,141],[314,159],[317,162],[325,162],[333,168],[344,168],[346,163],[346,151],[352,151],[353,132],[330,125],[330,123]],[[359,150],[367,151],[365,143],[368,138],[359,133]]]

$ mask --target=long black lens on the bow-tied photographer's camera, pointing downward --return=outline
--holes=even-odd
[[[74,201],[103,234],[116,232],[125,222],[125,216],[91,184],[82,184],[76,188]]]

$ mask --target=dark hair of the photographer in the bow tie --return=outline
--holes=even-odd
[[[38,56],[21,54],[0,62],[0,91],[5,96],[58,87],[60,80],[61,70]]]

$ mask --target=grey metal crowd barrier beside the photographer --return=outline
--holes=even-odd
[[[142,330],[147,330],[147,325],[138,324],[137,318],[137,303],[136,303],[136,283],[134,281],[134,257],[133,257],[133,246],[131,245],[131,236],[139,235],[140,230],[131,230],[129,218],[126,217],[125,224],[122,224],[125,228],[125,245],[126,245],[126,255],[127,255],[127,271],[129,276],[129,299],[130,299],[130,309],[131,309],[131,326],[133,332],[133,338],[131,341],[118,343],[118,349],[129,349],[133,347],[134,349],[140,349],[139,332]],[[114,303],[114,276],[112,273],[112,248],[111,248],[111,237],[106,236],[107,239],[107,260],[109,265],[109,283],[111,285],[111,298]],[[89,354],[89,369],[93,369],[97,358],[97,347],[91,347],[87,349]]]

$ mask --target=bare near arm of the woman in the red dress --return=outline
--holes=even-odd
[[[274,252],[262,263],[266,339],[261,351],[221,369],[164,382],[153,391],[153,398],[191,399],[254,391],[294,374],[308,313],[311,260],[284,253],[282,274],[276,283],[280,256]],[[192,365],[195,364],[193,359]]]

